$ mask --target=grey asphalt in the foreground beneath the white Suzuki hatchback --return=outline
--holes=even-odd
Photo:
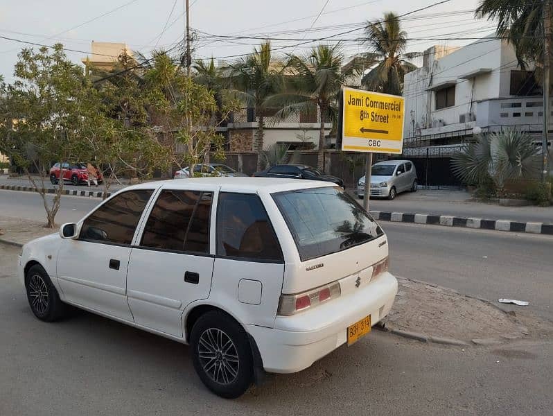
[[[0,415],[550,415],[552,343],[441,347],[373,331],[235,401],[188,347],[84,311],[37,320],[0,250]]]

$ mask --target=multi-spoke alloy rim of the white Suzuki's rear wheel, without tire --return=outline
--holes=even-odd
[[[240,368],[238,350],[225,331],[206,329],[198,342],[198,356],[202,369],[211,380],[223,385],[236,380]]]

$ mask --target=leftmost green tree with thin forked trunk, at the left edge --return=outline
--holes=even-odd
[[[15,82],[4,85],[1,94],[9,110],[0,125],[0,147],[24,169],[42,197],[46,226],[55,227],[63,181],[52,200],[45,183],[54,162],[81,160],[82,117],[91,110],[85,99],[91,85],[82,69],[67,59],[61,44],[51,50],[23,49],[14,75]]]

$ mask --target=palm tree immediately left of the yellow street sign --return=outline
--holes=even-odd
[[[353,67],[342,71],[343,61],[339,44],[320,44],[304,56],[289,55],[287,68],[292,74],[286,77],[285,90],[268,100],[282,107],[276,114],[280,119],[290,114],[317,114],[319,111],[319,170],[324,167],[325,124],[327,121],[335,124],[337,98],[355,71]]]

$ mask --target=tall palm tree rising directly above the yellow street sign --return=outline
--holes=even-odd
[[[401,30],[397,15],[384,14],[383,21],[367,21],[365,44],[371,48],[368,54],[378,64],[363,76],[361,83],[370,91],[401,95],[403,76],[416,66],[411,60],[419,53],[405,53],[407,33]]]

